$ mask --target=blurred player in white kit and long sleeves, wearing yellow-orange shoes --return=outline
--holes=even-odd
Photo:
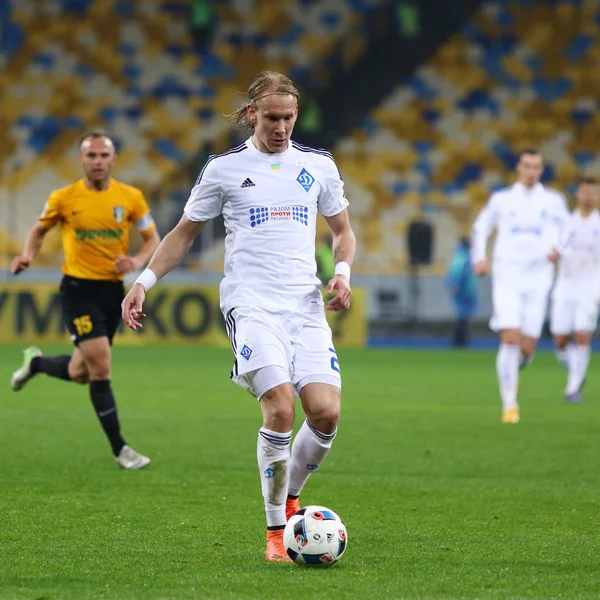
[[[490,327],[500,332],[496,372],[504,423],[520,419],[519,368],[531,360],[541,335],[554,263],[566,250],[570,220],[562,195],[540,183],[544,165],[539,152],[523,151],[516,170],[517,183],[492,194],[479,213],[472,243],[475,273],[485,275],[487,241],[497,229]]]

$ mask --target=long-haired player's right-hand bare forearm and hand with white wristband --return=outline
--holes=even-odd
[[[335,261],[335,275],[327,284],[327,293],[336,292],[327,303],[326,309],[338,312],[350,308],[352,302],[350,267],[356,254],[356,237],[350,226],[347,210],[333,217],[325,217],[325,220],[333,234],[333,260]]]

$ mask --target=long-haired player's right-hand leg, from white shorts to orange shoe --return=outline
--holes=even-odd
[[[289,518],[300,508],[308,478],[323,463],[337,434],[341,405],[340,366],[324,315],[304,315],[294,339],[293,383],[306,419],[292,445]]]

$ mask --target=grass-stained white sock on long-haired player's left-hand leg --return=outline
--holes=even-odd
[[[291,431],[278,433],[264,427],[258,430],[256,455],[267,527],[281,527],[286,523],[285,501],[288,493],[291,439]]]

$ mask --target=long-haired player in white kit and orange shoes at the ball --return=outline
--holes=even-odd
[[[269,561],[288,562],[287,519],[300,508],[309,475],[323,462],[337,431],[340,366],[316,277],[316,219],[333,234],[335,275],[327,310],[350,307],[350,265],[356,241],[337,166],[328,152],[291,140],[298,90],[279,73],[259,73],[249,102],[232,117],[253,135],[211,156],[178,225],[123,301],[123,319],[141,327],[145,292],[175,267],[209,219],[223,214],[225,277],[221,310],[235,354],[232,379],[259,400],[263,424],[257,457],[267,517]],[[294,400],[306,420],[290,453]]]

